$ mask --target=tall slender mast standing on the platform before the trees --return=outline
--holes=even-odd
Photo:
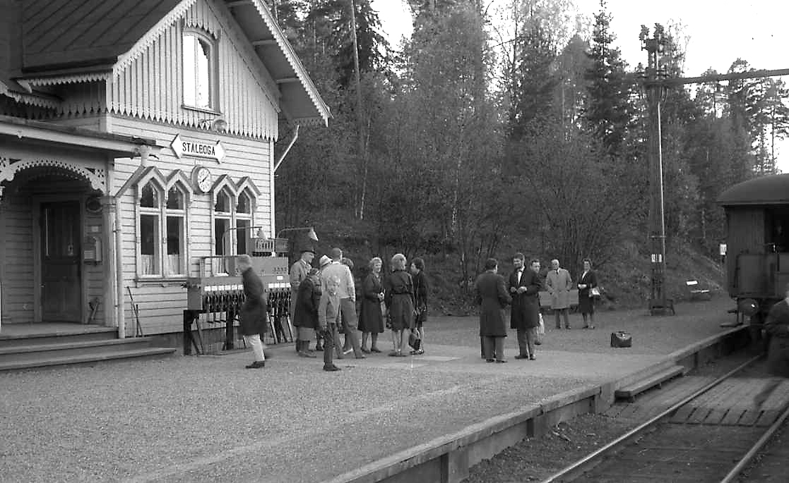
[[[644,72],[645,94],[648,113],[649,136],[649,246],[651,247],[652,279],[649,294],[649,313],[664,314],[672,310],[671,302],[666,298],[666,223],[664,219],[663,199],[663,147],[660,129],[660,102],[665,94],[664,84],[660,80],[667,77],[666,70],[660,66],[660,55],[666,47],[663,29],[656,26],[652,39],[649,29],[641,27],[641,50],[646,50],[649,61]]]

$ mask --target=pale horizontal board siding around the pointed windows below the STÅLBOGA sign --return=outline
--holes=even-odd
[[[191,129],[178,129],[166,124],[151,124],[129,117],[114,117],[110,124],[113,132],[159,139],[160,144],[169,144],[177,134],[183,139],[205,139],[204,132]],[[211,139],[221,139],[226,150],[226,158],[222,163],[209,158],[177,158],[170,148],[165,148],[156,158],[148,158],[148,166],[155,166],[165,176],[170,176],[175,169],[181,169],[187,176],[197,165],[211,169],[213,179],[219,176],[230,176],[235,184],[245,176],[261,191],[256,199],[252,221],[255,225],[271,227],[271,194],[269,180],[271,173],[270,143],[264,140],[246,139],[237,136],[211,134]],[[125,184],[137,166],[140,158],[118,158],[114,163],[112,176],[114,194]],[[125,297],[126,335],[133,336],[135,318],[129,301],[126,287],[132,289],[134,302],[140,306],[140,326],[143,333],[173,333],[183,329],[183,310],[186,308],[186,289],[178,280],[144,281],[138,283],[136,270],[136,192],[133,186],[120,199],[122,221],[122,254],[123,254],[123,285]],[[189,243],[189,277],[200,276],[200,257],[213,254],[213,225],[211,211],[213,197],[209,192],[204,195],[194,193],[188,206],[189,226],[187,242]],[[267,232],[270,230],[267,229]]]

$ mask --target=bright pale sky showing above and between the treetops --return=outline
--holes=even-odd
[[[507,0],[490,0],[492,7]],[[593,16],[600,10],[598,0],[574,0],[578,13]],[[404,0],[372,0],[380,13],[383,30],[397,45],[401,35],[410,35],[411,17]],[[623,59],[635,67],[646,64],[638,34],[641,24],[681,24],[688,37],[686,76],[700,76],[712,68],[727,72],[737,58],[748,61],[753,69],[789,69],[789,2],[786,0],[608,0],[611,29],[616,35]],[[789,84],[789,78],[783,81]],[[777,149],[778,165],[789,173],[789,141]],[[785,153],[785,154],[784,154]]]

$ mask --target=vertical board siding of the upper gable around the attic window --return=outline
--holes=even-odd
[[[200,28],[215,39],[218,62],[217,104],[213,110],[227,121],[227,131],[257,139],[278,136],[279,89],[257,58],[248,39],[239,38],[234,20],[221,7],[199,0],[185,17],[167,28],[121,72],[108,80],[111,113],[196,127],[215,114],[182,107],[182,35]],[[82,103],[75,102],[77,108]]]

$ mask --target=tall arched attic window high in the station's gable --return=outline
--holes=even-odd
[[[184,105],[215,109],[215,43],[199,32],[184,33]]]

